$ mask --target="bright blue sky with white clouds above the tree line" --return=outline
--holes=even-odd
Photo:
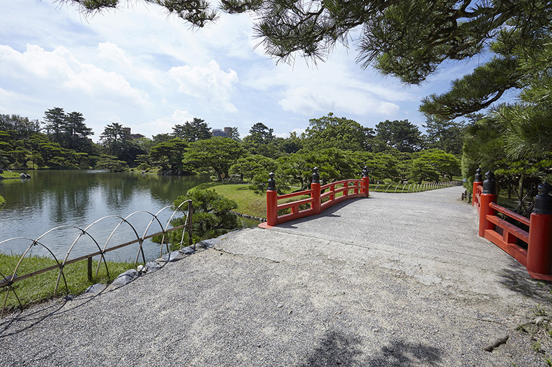
[[[0,0],[0,114],[81,112],[94,141],[110,123],[151,138],[194,117],[242,137],[255,123],[286,137],[329,112],[365,127],[408,119],[423,131],[420,100],[482,62],[447,63],[423,85],[405,86],[355,62],[354,32],[324,63],[278,63],[256,47],[253,21],[221,12],[192,29],[141,3],[84,17],[53,0]]]

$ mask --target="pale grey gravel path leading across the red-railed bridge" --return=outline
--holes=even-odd
[[[353,199],[10,315],[0,366],[546,366],[516,328],[549,287],[477,236],[462,191]]]

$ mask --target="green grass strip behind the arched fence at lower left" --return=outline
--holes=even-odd
[[[15,266],[17,266],[17,262],[19,262],[19,258],[21,258],[21,256],[0,253],[0,272],[4,277],[10,279]],[[55,264],[55,260],[46,257],[33,256],[32,258],[24,258],[17,269],[17,275],[22,276]],[[108,262],[108,276],[106,273],[106,266],[102,262],[98,277],[94,277],[97,265],[97,261],[92,261],[92,281],[88,280],[86,260],[65,266],[65,268],[63,268],[63,274],[65,275],[68,289],[66,289],[63,277],[61,277],[57,296],[61,297],[68,294],[79,295],[86,291],[88,286],[91,286],[92,284],[110,283],[112,280],[115,280],[117,275],[120,273],[124,273],[124,271],[127,271],[128,269],[135,268],[134,263],[130,262]],[[19,297],[23,307],[27,307],[31,304],[43,302],[53,297],[58,275],[58,269],[47,271],[46,273],[29,277],[26,280],[21,280],[21,282],[16,282],[12,285],[12,287],[17,293],[17,297]],[[0,280],[2,279],[3,278],[0,276]],[[3,287],[0,291],[0,308],[6,299],[7,290],[8,287]],[[6,303],[6,311],[12,311],[15,308],[19,308],[17,297],[15,297],[14,293],[10,291],[8,295],[8,302]]]

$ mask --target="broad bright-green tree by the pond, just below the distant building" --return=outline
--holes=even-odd
[[[228,176],[228,169],[245,155],[244,148],[230,138],[215,137],[190,143],[184,154],[184,166],[198,171],[215,171],[217,180]]]

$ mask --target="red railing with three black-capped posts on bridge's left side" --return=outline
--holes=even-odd
[[[362,171],[362,178],[341,180],[331,182],[326,185],[320,185],[318,168],[313,169],[313,182],[311,189],[286,193],[278,195],[276,191],[276,181],[274,173],[270,173],[268,180],[268,190],[266,191],[266,222],[261,223],[260,227],[273,227],[277,224],[288,222],[306,216],[313,216],[322,213],[325,209],[336,205],[339,202],[352,198],[368,198],[370,178],[366,167]],[[300,196],[310,196],[302,200],[295,200],[278,204],[278,200],[288,198],[297,198]],[[301,205],[308,205],[308,208],[300,210]],[[282,209],[291,209],[291,213],[278,216],[278,211]]]

